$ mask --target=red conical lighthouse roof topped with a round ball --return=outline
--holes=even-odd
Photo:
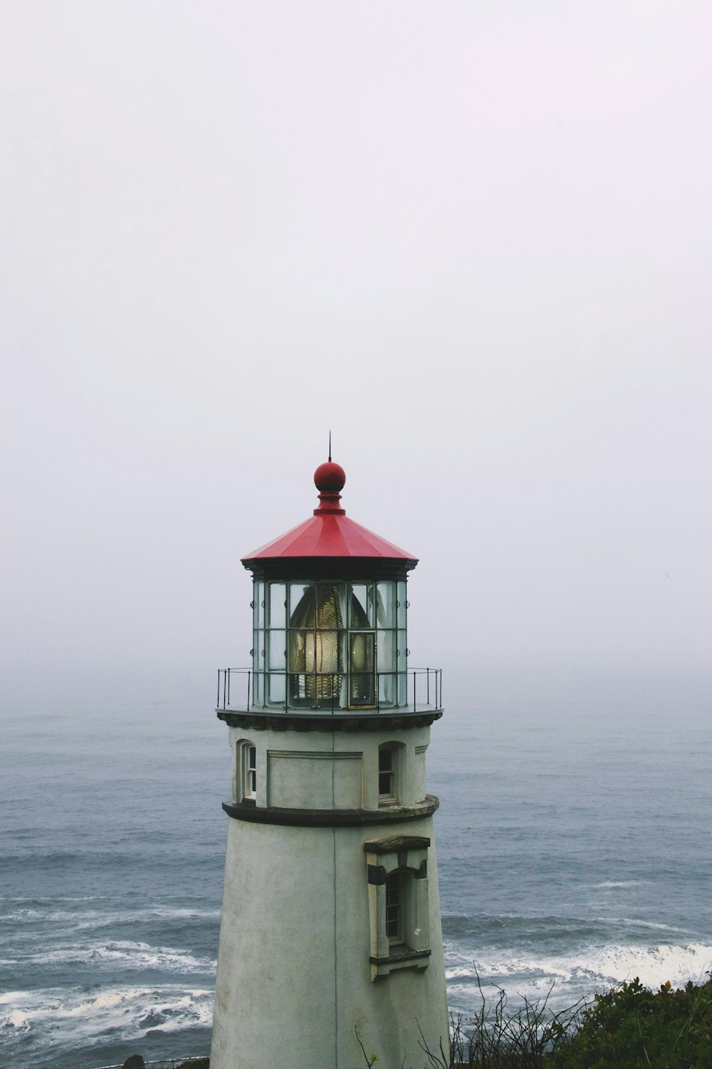
[[[286,563],[304,557],[375,558],[374,562],[392,561],[405,569],[415,567],[417,557],[348,518],[339,506],[339,491],[346,482],[346,474],[339,464],[331,458],[326,464],[320,464],[314,472],[314,482],[319,491],[319,505],[314,515],[243,557],[246,568],[259,568],[270,561]]]

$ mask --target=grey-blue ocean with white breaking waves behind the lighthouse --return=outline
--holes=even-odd
[[[428,789],[452,1010],[480,986],[563,1008],[701,978],[712,678],[452,670],[444,697]],[[18,701],[0,730],[0,1065],[207,1054],[230,786],[211,686]]]

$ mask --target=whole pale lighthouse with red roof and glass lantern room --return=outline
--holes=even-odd
[[[408,665],[417,558],[314,514],[242,558],[252,665],[218,673],[232,797],[210,1069],[421,1069],[447,1050],[430,727],[440,670]]]

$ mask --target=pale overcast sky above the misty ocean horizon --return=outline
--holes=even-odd
[[[1,6],[11,693],[209,704],[330,429],[414,663],[706,663],[708,0]]]

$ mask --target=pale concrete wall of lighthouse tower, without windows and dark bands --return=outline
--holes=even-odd
[[[384,742],[404,745],[401,804],[422,801],[428,737],[428,728],[333,735],[231,729],[234,747],[249,741],[257,748],[257,806],[270,797],[281,800],[272,805],[325,809],[378,809]],[[211,1069],[363,1069],[354,1028],[378,1067],[425,1067],[418,1024],[433,1050],[447,1043],[432,818],[335,828],[226,819]],[[431,840],[432,952],[425,969],[374,980],[363,845],[396,835]]]

